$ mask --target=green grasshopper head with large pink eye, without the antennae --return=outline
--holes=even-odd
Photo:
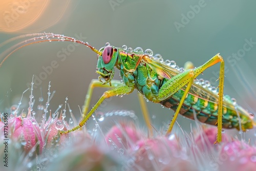
[[[114,67],[118,58],[118,49],[106,44],[106,46],[101,48],[99,52],[101,53],[98,54],[98,71],[96,72],[100,74],[99,81],[101,81],[101,78],[103,78],[105,79],[103,84],[106,84],[109,83],[114,77]]]

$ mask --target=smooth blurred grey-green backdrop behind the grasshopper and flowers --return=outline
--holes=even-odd
[[[26,11],[20,13],[16,19],[23,19],[26,12],[39,8],[36,3],[37,1],[31,1],[27,6],[20,4],[26,7]],[[2,29],[0,36],[1,42],[4,42],[15,36],[34,32],[53,32],[71,37],[80,35],[86,37],[82,40],[88,41],[97,49],[103,47],[105,42],[117,47],[127,45],[132,48],[141,47],[143,50],[152,49],[154,54],[160,53],[165,60],[175,60],[180,67],[186,61],[200,66],[220,53],[228,70],[225,73],[224,93],[236,98],[240,105],[255,113],[255,6],[256,2],[252,0],[48,1],[41,16],[34,23],[13,32]],[[11,16],[11,13],[9,15]],[[251,43],[248,44],[248,41]],[[1,53],[17,42],[19,41],[1,47]],[[46,103],[48,83],[51,81],[51,91],[56,90],[56,93],[49,108],[54,112],[59,104],[65,104],[65,98],[68,96],[73,113],[79,116],[78,105],[83,105],[90,81],[98,77],[95,73],[97,55],[79,45],[63,60],[59,57],[64,54],[62,48],[67,49],[70,44],[72,43],[44,42],[12,54],[0,68],[1,112],[5,112],[12,104],[17,104],[33,74],[39,77],[44,72],[43,67],[51,66],[51,62],[55,60],[58,67],[53,69],[51,74],[47,74],[46,79],[33,91],[36,100],[33,108],[37,111],[40,87],[44,104]],[[2,54],[1,58],[4,56],[5,54]],[[200,77],[209,79],[217,87],[218,82],[215,80],[218,71],[219,65],[216,65]],[[115,79],[120,79],[118,72]],[[95,91],[91,105],[96,103],[103,92],[101,89]],[[25,112],[28,101],[29,92],[24,95],[22,101],[21,108]],[[152,102],[147,104],[150,115],[156,116],[156,127],[167,124],[174,114],[173,111],[162,109],[161,105]],[[122,98],[112,98],[106,105],[101,106],[99,111],[117,109],[133,110],[141,118],[137,91]],[[179,117],[178,121],[183,127],[190,126],[188,119]]]

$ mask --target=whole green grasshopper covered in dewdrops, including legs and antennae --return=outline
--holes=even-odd
[[[96,71],[100,76],[98,80],[92,80],[88,89],[87,98],[84,104],[83,118],[79,125],[71,130],[61,131],[61,134],[70,133],[80,129],[104,99],[112,96],[122,96],[132,93],[137,89],[145,98],[154,103],[160,103],[166,108],[175,111],[170,122],[166,135],[170,134],[178,114],[195,119],[195,117],[207,124],[217,125],[217,142],[221,142],[222,128],[236,128],[240,131],[252,129],[255,126],[253,114],[239,106],[236,101],[229,96],[223,96],[224,86],[224,60],[217,54],[198,68],[175,67],[169,60],[163,62],[158,55],[153,57],[151,50],[142,51],[141,48],[132,50],[126,46],[117,48],[109,43],[100,50],[90,46],[88,42],[83,42],[72,37],[53,33],[28,34],[23,37],[32,36],[33,38],[17,44],[17,48],[7,55],[3,62],[16,50],[25,46],[43,41],[72,41],[86,45],[92,51],[97,53],[98,62]],[[37,37],[36,37],[37,36]],[[23,45],[23,43],[25,45]],[[21,46],[22,45],[22,46]],[[219,91],[210,86],[209,81],[197,80],[196,78],[207,68],[220,63]],[[123,81],[113,80],[115,70],[120,71]],[[102,79],[104,81],[102,81]],[[89,104],[93,89],[96,87],[112,88],[105,91],[98,102],[93,106],[90,112]],[[140,98],[143,104],[143,99]],[[150,119],[146,116],[145,106],[144,118],[147,126],[150,126]],[[221,109],[221,110],[219,110]]]

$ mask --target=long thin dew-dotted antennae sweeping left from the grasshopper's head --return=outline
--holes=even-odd
[[[11,38],[5,42],[3,42],[2,44],[0,44],[0,47],[8,44],[9,42],[13,41],[13,40],[17,40],[19,38],[24,38],[24,37],[33,37],[24,41],[21,41],[19,43],[17,43],[16,45],[12,46],[11,48],[7,49],[6,51],[3,52],[3,54],[7,54],[8,52],[10,52],[0,63],[0,67],[2,67],[4,61],[14,52],[16,52],[17,50],[24,48],[26,46],[32,45],[32,44],[38,44],[39,42],[45,42],[45,41],[72,41],[72,42],[76,42],[78,44],[82,44],[82,45],[86,45],[87,47],[89,47],[92,51],[94,51],[95,53],[97,53],[98,55],[102,55],[102,52],[99,52],[97,49],[95,49],[94,47],[92,47],[91,45],[88,44],[88,42],[84,42],[81,40],[77,40],[76,38],[73,37],[68,37],[65,36],[63,34],[54,34],[54,33],[33,33],[33,34],[26,34],[26,35],[22,35],[22,36],[17,36],[14,38]],[[12,50],[14,49],[14,50]]]

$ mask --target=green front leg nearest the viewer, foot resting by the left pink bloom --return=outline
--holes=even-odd
[[[112,90],[105,91],[103,93],[103,95],[100,97],[100,99],[98,100],[98,102],[93,106],[91,111],[80,121],[80,123],[77,126],[75,126],[71,130],[61,131],[60,134],[67,134],[72,131],[80,129],[80,127],[82,127],[87,122],[87,120],[95,112],[95,110],[98,108],[98,106],[104,101],[104,99],[110,98],[110,97],[116,96],[116,95],[129,94],[129,93],[133,92],[133,90],[134,90],[134,87],[128,87],[126,85],[122,85],[122,86],[116,87]]]

